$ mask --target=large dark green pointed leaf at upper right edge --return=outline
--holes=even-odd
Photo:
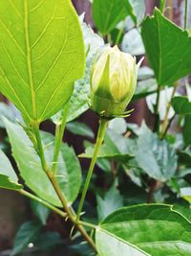
[[[159,85],[168,85],[191,72],[191,37],[158,9],[142,23],[144,46]]]

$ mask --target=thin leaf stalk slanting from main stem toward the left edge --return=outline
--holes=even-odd
[[[19,193],[27,198],[31,198],[32,200],[35,200],[35,201],[47,206],[47,208],[51,209],[53,212],[57,213],[61,217],[63,217],[63,218],[67,217],[67,214],[65,212],[62,212],[60,209],[54,207],[52,204],[48,203],[47,201],[44,201],[43,199],[37,198],[36,196],[32,195],[31,193],[29,193],[25,190],[20,190]]]

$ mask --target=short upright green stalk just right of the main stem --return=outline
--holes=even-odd
[[[63,109],[61,122],[55,125],[55,146],[53,151],[53,166],[52,166],[52,172],[54,175],[57,172],[59,151],[62,144],[64,129],[66,127],[67,113],[68,113],[68,105],[66,105]]]

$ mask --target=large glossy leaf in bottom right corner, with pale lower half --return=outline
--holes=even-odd
[[[191,222],[170,205],[121,208],[100,222],[96,245],[100,256],[190,256]]]

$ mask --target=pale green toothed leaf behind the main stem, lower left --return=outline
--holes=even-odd
[[[38,155],[32,147],[32,142],[19,125],[4,119],[14,159],[18,165],[21,176],[26,185],[40,198],[43,198],[56,206],[61,206],[60,200],[53,190],[53,185],[41,168]],[[48,133],[42,133],[45,147],[45,156],[49,165],[53,161],[54,137]],[[52,143],[52,144],[50,144]],[[78,194],[81,184],[81,172],[74,150],[68,145],[62,144],[58,161],[58,183],[69,203],[72,203]]]

